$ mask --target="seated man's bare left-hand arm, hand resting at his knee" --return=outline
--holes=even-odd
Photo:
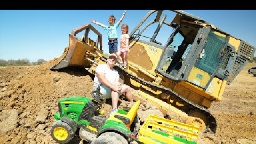
[[[108,88],[112,89],[115,92],[120,92],[121,90],[121,85],[117,85],[117,83],[115,82],[114,84],[111,84],[108,80],[106,80],[105,78],[105,74],[102,72],[97,72],[97,77],[99,78],[100,82],[102,84],[104,84],[105,86],[107,86]]]

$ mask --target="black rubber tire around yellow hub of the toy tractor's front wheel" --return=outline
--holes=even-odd
[[[67,138],[64,139],[64,140],[60,140],[60,139],[58,139],[58,138],[56,138],[56,137],[54,136],[54,130],[55,130],[56,128],[60,128],[60,127],[63,128],[63,129],[65,129],[65,130],[68,132],[68,136],[67,136]],[[53,139],[53,140],[55,140],[56,142],[58,142],[58,143],[60,143],[60,144],[66,144],[66,143],[70,142],[70,141],[74,138],[74,136],[75,136],[74,129],[75,129],[75,128],[72,128],[72,127],[71,127],[70,125],[68,125],[67,123],[62,122],[61,120],[58,120],[58,121],[56,121],[54,124],[52,124],[52,128],[51,128],[50,132],[51,132],[51,136],[52,136],[52,139]]]

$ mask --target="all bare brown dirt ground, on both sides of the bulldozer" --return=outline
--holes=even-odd
[[[51,71],[60,58],[40,66],[0,68],[0,144],[56,144],[50,136],[58,111],[58,100],[67,96],[90,96],[94,76],[82,68]],[[216,134],[201,134],[198,144],[256,143],[256,77],[248,64],[232,84],[226,86],[221,102],[210,108],[216,117]],[[121,97],[119,108],[128,106]],[[111,100],[102,109],[109,115]],[[141,104],[142,121],[147,114],[162,113],[149,103]],[[83,144],[78,135],[70,144]]]

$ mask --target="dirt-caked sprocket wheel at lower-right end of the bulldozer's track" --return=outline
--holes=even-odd
[[[203,133],[208,128],[208,120],[204,114],[200,112],[191,112],[188,114],[188,120],[186,124],[194,124],[195,126],[200,127],[200,132]]]

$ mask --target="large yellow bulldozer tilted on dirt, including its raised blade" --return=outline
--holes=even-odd
[[[96,40],[88,38],[91,31]],[[80,32],[82,38],[76,37]],[[114,68],[120,82],[133,88],[134,100],[151,102],[164,114],[172,111],[201,132],[216,132],[208,108],[222,100],[226,84],[252,60],[255,47],[182,10],[150,10],[129,35],[128,68]],[[102,35],[85,24],[72,30],[64,58],[51,69],[82,66],[95,74],[106,60]]]

